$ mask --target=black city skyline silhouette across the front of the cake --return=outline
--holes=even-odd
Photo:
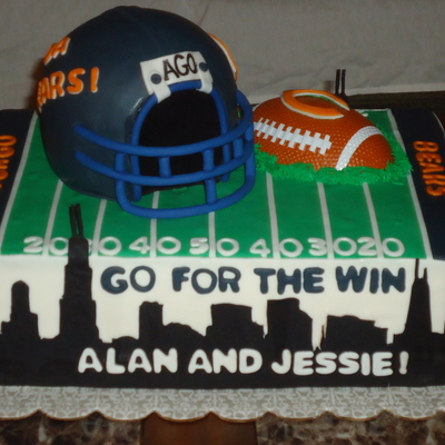
[[[77,216],[76,216],[77,215]],[[445,384],[445,335],[432,332],[429,286],[427,270],[419,276],[416,261],[415,280],[405,330],[387,344],[387,329],[375,327],[373,320],[354,316],[328,316],[322,344],[313,350],[313,320],[300,310],[295,297],[269,300],[268,329],[251,320],[251,308],[243,305],[211,306],[212,324],[202,336],[181,324],[162,324],[162,305],[145,301],[139,310],[139,336],[120,337],[110,343],[99,338],[96,325],[96,301],[91,295],[92,270],[88,260],[88,241],[82,234],[80,214],[71,212],[72,236],[69,239],[68,261],[65,268],[65,290],[60,299],[60,330],[51,339],[40,338],[38,316],[30,312],[29,288],[17,281],[11,288],[10,320],[1,323],[0,384],[38,386],[96,387],[158,387],[158,388],[230,388],[230,387],[293,387],[293,386],[424,386]],[[192,308],[190,308],[192,310]],[[91,348],[102,370],[88,368],[79,372],[79,358]],[[137,369],[121,374],[107,372],[107,350],[116,350],[116,364],[127,366],[135,349],[142,349],[151,359],[155,349],[168,354],[175,348],[178,368],[175,372]],[[254,349],[260,353],[263,366],[250,374],[221,367],[218,373],[198,369],[190,374],[190,357],[198,349],[211,358],[219,349]],[[276,373],[271,364],[281,364],[283,352],[314,353],[305,365],[312,369],[298,375],[293,367]],[[335,372],[318,372],[316,356],[334,353]],[[390,353],[392,374],[342,374],[338,357],[354,352],[373,357],[374,353]],[[402,356],[405,356],[402,359]],[[406,359],[406,357],[408,357]],[[357,359],[360,363],[360,359]],[[358,365],[357,365],[358,366]],[[360,365],[362,366],[362,365]],[[312,373],[312,374],[310,374]]]

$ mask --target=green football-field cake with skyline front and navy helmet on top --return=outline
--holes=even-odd
[[[142,30],[165,41],[171,20],[178,34],[167,49],[156,46],[152,59],[138,60],[136,83],[125,63],[112,71],[132,79],[118,95],[121,115],[112,115],[101,96],[116,90],[101,66],[110,52],[82,59],[85,46],[99,36],[102,46],[91,47],[105,51],[116,26],[118,36]],[[147,23],[157,23],[155,37]],[[261,152],[260,122],[236,89],[228,50],[202,32],[161,11],[110,10],[51,47],[37,113],[0,111],[0,383],[444,385],[445,148],[437,118],[360,111],[390,145],[390,152],[383,149],[387,164],[402,150],[412,171],[388,177],[380,174],[386,168],[353,166],[333,174],[304,164],[310,171],[301,177],[275,169],[274,156]],[[139,57],[125,39],[111,46],[118,61],[125,51],[130,61]],[[177,82],[165,82],[167,75]],[[226,117],[222,137],[211,128],[187,139],[169,171],[177,135],[162,127],[171,138],[161,144],[162,110],[149,130],[138,116],[175,95],[178,116],[191,112],[188,93],[176,90],[182,82],[200,109],[221,86],[224,99],[214,100]],[[145,144],[146,156],[160,159],[158,170],[126,165]],[[182,170],[197,152],[205,160]],[[148,179],[127,185],[140,174]],[[142,210],[135,210],[138,199]]]

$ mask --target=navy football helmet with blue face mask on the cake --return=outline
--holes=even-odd
[[[83,23],[43,59],[38,108],[48,160],[72,189],[150,218],[210,212],[255,182],[253,112],[227,48],[170,12],[119,7]],[[217,182],[244,167],[218,197]],[[155,190],[204,185],[201,202],[146,208]]]

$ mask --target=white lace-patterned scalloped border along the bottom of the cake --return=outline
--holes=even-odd
[[[117,421],[140,419],[152,412],[169,419],[199,418],[212,412],[226,419],[255,419],[270,412],[308,418],[330,412],[367,418],[382,411],[421,418],[445,409],[445,387],[288,388],[288,389],[98,389],[73,387],[0,387],[0,418],[27,417],[41,411],[73,419],[100,412]]]

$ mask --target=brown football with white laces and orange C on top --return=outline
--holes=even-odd
[[[393,162],[389,144],[365,116],[337,96],[288,90],[254,110],[255,142],[277,162],[384,169]]]

